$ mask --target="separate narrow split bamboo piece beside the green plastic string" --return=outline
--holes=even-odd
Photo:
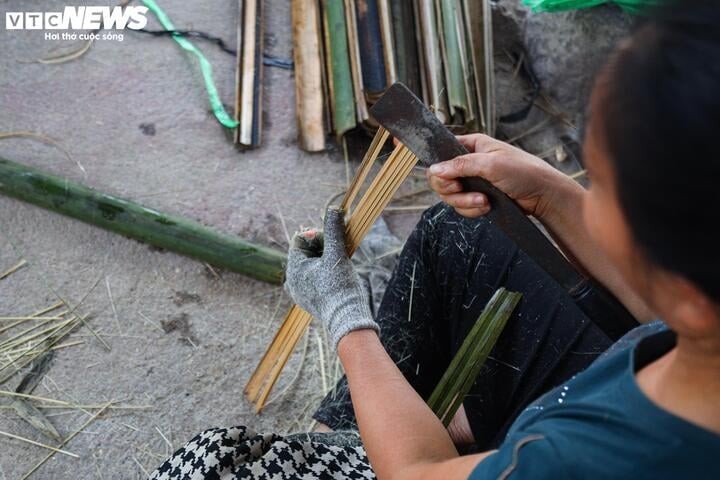
[[[241,148],[262,141],[263,1],[238,0],[238,48],[235,74],[235,143]]]

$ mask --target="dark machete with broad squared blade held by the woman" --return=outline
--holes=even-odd
[[[388,88],[370,113],[425,166],[468,153],[455,135],[402,83]],[[617,298],[580,273],[555,248],[514,200],[484,178],[466,177],[461,179],[461,184],[465,191],[481,192],[488,197],[492,209],[485,217],[555,279],[610,339],[617,340],[638,325]]]

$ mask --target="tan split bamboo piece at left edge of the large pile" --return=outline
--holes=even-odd
[[[293,0],[295,115],[300,148],[325,150],[320,8],[317,0]]]

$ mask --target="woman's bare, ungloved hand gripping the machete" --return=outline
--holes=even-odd
[[[487,135],[457,138],[470,153],[433,165],[427,177],[430,188],[465,217],[485,215],[492,206],[482,193],[463,192],[461,177],[483,177],[538,219],[552,206],[558,182],[569,180],[540,158]]]

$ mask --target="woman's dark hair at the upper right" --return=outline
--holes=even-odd
[[[720,301],[720,2],[684,0],[643,21],[598,94],[635,240]]]

